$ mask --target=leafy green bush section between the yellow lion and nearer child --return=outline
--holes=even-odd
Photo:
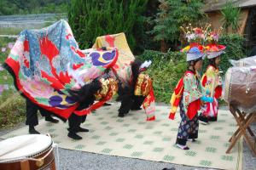
[[[153,79],[154,94],[158,102],[169,103],[177,81],[186,71],[185,55],[179,52],[160,53],[145,50],[139,59],[153,61],[147,73]]]

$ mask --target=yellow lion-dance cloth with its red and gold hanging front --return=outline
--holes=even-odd
[[[137,96],[145,96],[143,109],[147,115],[147,121],[154,121],[154,90],[152,80],[147,75],[137,72],[132,74],[132,65],[135,63],[135,57],[125,38],[124,33],[97,37],[93,48],[118,48],[119,58],[112,67],[113,74],[119,80],[123,87],[129,87]],[[138,65],[140,67],[141,65]],[[139,68],[137,68],[139,69]],[[138,93],[139,92],[139,93]]]

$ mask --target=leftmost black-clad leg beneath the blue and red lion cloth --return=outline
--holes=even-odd
[[[29,126],[29,133],[39,134],[35,129],[35,126],[38,125],[38,106],[29,99],[26,99],[26,125]]]

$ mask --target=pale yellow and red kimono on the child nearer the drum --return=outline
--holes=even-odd
[[[201,78],[202,86],[210,92],[213,97],[213,103],[203,105],[201,114],[206,116],[209,121],[217,121],[218,116],[218,98],[222,94],[221,77],[219,77],[218,68],[213,65],[207,67],[206,73]]]

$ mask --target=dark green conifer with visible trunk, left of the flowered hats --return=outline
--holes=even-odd
[[[161,51],[166,52],[168,42],[177,48],[180,37],[179,27],[202,20],[205,14],[201,11],[201,0],[159,0],[160,12],[154,20],[155,26],[149,33],[154,35],[154,40],[161,42]]]

